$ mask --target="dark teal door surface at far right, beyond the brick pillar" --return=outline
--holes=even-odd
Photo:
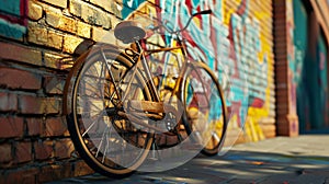
[[[297,114],[300,133],[324,128],[329,124],[328,53],[325,37],[319,34],[316,53],[308,48],[308,14],[302,0],[294,0],[295,62],[290,66],[297,84]],[[315,33],[313,33],[315,34]]]

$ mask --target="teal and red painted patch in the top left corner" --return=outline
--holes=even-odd
[[[27,25],[27,0],[0,0],[0,35],[23,39]]]

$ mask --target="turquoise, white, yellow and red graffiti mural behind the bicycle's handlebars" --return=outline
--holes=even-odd
[[[235,5],[228,5],[231,3]],[[257,4],[250,0],[124,0],[122,9],[123,19],[141,12],[170,22],[173,30],[183,27],[191,14],[213,10],[212,15],[194,19],[183,36],[189,39],[189,54],[205,61],[224,85],[231,114],[229,127],[252,130],[257,127],[258,135],[251,136],[251,140],[263,138],[258,123],[274,112],[271,103],[274,94],[270,88],[274,61],[268,37],[272,35],[272,25],[265,25],[272,14],[259,8],[251,11],[254,7]],[[172,44],[170,37],[164,36],[163,42]]]

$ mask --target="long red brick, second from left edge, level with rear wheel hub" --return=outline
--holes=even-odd
[[[22,114],[59,114],[60,101],[55,97],[19,96],[19,112]]]

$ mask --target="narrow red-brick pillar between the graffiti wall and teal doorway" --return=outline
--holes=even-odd
[[[297,136],[296,84],[293,80],[295,71],[290,68],[290,62],[294,62],[293,2],[276,0],[273,5],[277,134]]]

